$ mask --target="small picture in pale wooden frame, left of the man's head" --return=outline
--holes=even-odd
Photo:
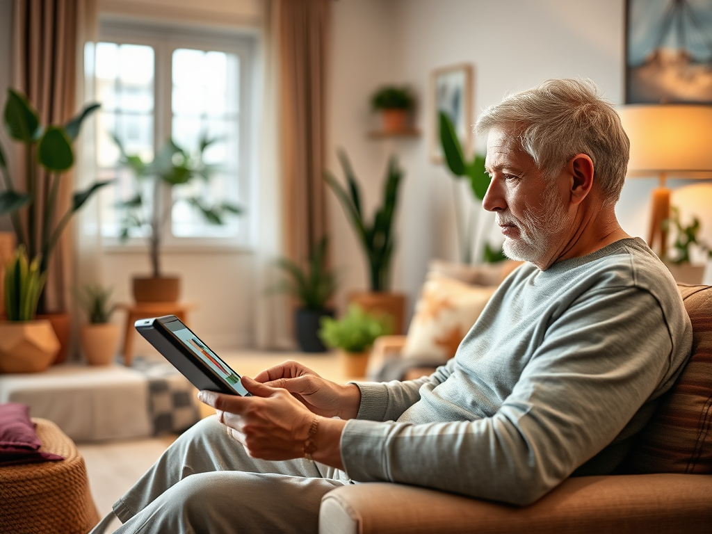
[[[439,112],[445,112],[467,152],[472,142],[472,66],[468,64],[439,68],[433,71],[430,109],[430,159],[442,162]]]

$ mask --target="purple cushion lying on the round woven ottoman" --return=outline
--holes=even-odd
[[[64,459],[63,456],[40,451],[41,445],[26,404],[0,404],[0,465]]]

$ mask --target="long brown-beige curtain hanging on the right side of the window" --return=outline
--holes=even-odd
[[[326,234],[327,52],[332,0],[282,0],[282,165],[285,251],[301,262]]]

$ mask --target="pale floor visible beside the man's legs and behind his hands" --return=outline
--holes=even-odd
[[[335,382],[344,383],[349,379],[342,372],[340,361],[333,353],[220,352],[220,356],[239,375],[248,377],[286,360],[297,360]],[[201,411],[204,416],[211,414],[209,407]],[[84,456],[92,496],[102,517],[111,511],[112,504],[152,466],[175,437],[77,444]],[[120,523],[115,520],[107,532],[112,532],[118,525]]]

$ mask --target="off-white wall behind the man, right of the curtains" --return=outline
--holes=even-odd
[[[456,63],[473,65],[475,115],[471,122],[481,108],[545,78],[591,78],[608,100],[620,104],[624,99],[624,0],[340,0],[334,12],[332,142],[347,147],[357,169],[374,169],[377,179],[387,152],[394,150],[402,159],[406,178],[398,215],[394,287],[406,291],[412,305],[428,259],[457,258],[451,177],[428,157],[432,70]],[[365,138],[367,101],[382,82],[407,83],[414,89],[422,137],[390,143]],[[476,140],[477,150],[483,152],[485,144],[486,140]],[[366,177],[366,172],[360,174]],[[637,179],[624,187],[617,214],[631,235],[646,232],[655,184],[654,179]],[[671,180],[669,186],[683,184]],[[674,204],[676,199],[682,204],[682,192],[674,192]],[[363,261],[360,250],[342,212],[334,208],[336,263],[348,258],[350,268],[344,292],[365,288],[360,263],[353,264]],[[705,206],[688,206],[686,211],[712,217],[712,210]],[[481,227],[493,239],[501,239],[491,221],[483,212]],[[712,221],[703,219],[703,229],[712,241]]]

